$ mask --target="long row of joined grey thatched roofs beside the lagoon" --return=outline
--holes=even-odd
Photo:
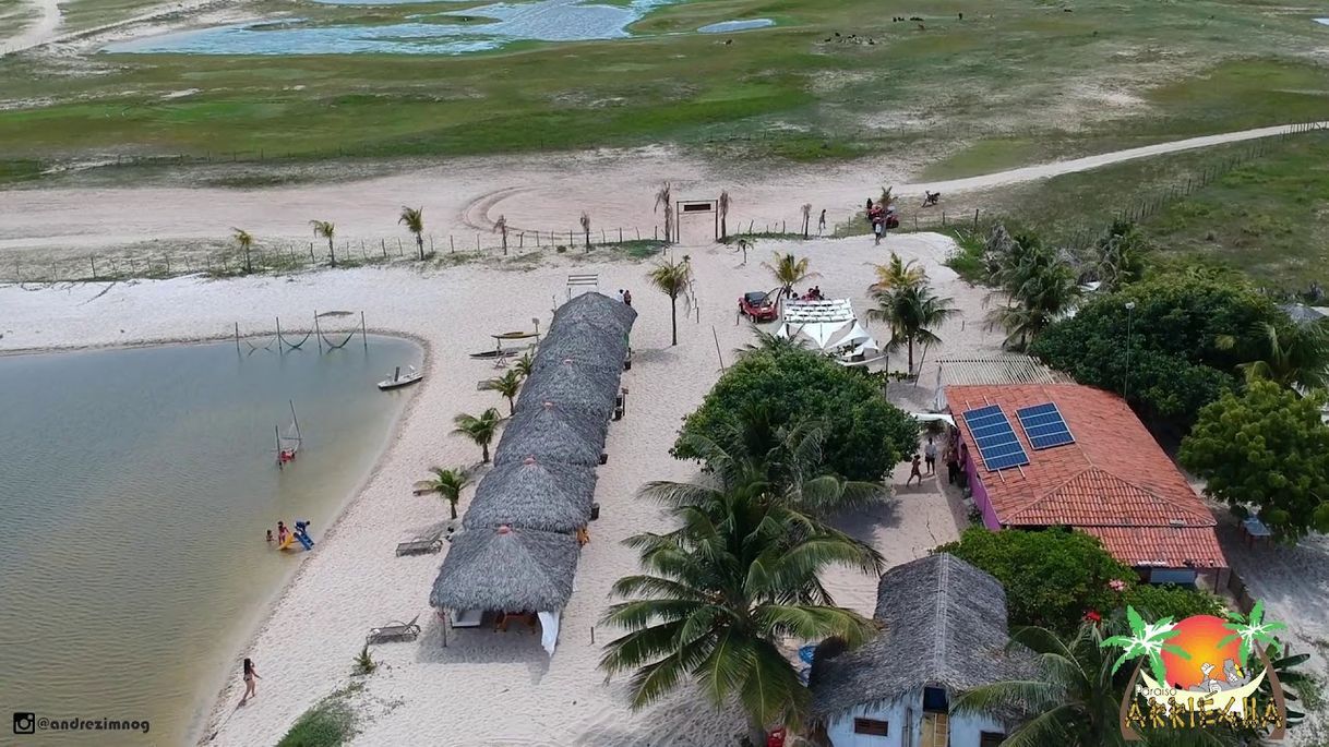
[[[579,552],[570,533],[590,521],[594,467],[635,319],[631,307],[601,294],[554,312],[431,605],[557,613],[567,603]],[[557,635],[557,615],[553,626]],[[553,641],[546,649],[553,653]]]

